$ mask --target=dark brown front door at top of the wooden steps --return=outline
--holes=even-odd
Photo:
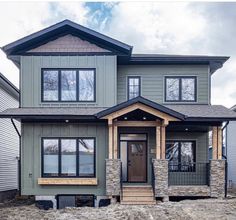
[[[147,149],[144,141],[128,142],[128,182],[147,181]]]

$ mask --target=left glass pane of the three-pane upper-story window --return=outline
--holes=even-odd
[[[45,70],[43,72],[43,100],[58,101],[57,70]]]

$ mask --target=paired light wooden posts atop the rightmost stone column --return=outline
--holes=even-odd
[[[212,159],[222,159],[222,129],[220,126],[212,128]]]

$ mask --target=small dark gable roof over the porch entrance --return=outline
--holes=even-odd
[[[96,116],[98,118],[102,118],[102,117],[104,117],[106,115],[109,115],[109,114],[111,114],[113,112],[119,111],[119,110],[121,110],[123,108],[126,108],[126,107],[131,106],[131,105],[136,104],[136,103],[144,104],[146,106],[154,108],[154,109],[156,109],[158,111],[166,113],[166,114],[168,114],[170,116],[173,116],[175,118],[178,118],[180,120],[184,120],[184,118],[185,118],[185,116],[183,114],[181,114],[181,113],[179,113],[177,111],[174,111],[174,110],[172,110],[170,108],[167,108],[167,107],[165,107],[163,105],[160,105],[160,104],[158,104],[156,102],[153,102],[153,101],[150,101],[148,99],[145,99],[142,96],[138,96],[136,98],[130,99],[130,100],[126,101],[126,102],[122,102],[122,103],[120,103],[118,105],[115,105],[115,106],[113,106],[111,108],[108,108],[108,109],[106,109],[104,111],[101,111],[101,112],[97,113]]]

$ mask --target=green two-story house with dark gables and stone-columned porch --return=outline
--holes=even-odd
[[[224,197],[211,76],[229,57],[133,54],[62,21],[3,47],[20,69],[21,193],[54,207]],[[208,132],[212,131],[212,160]]]

